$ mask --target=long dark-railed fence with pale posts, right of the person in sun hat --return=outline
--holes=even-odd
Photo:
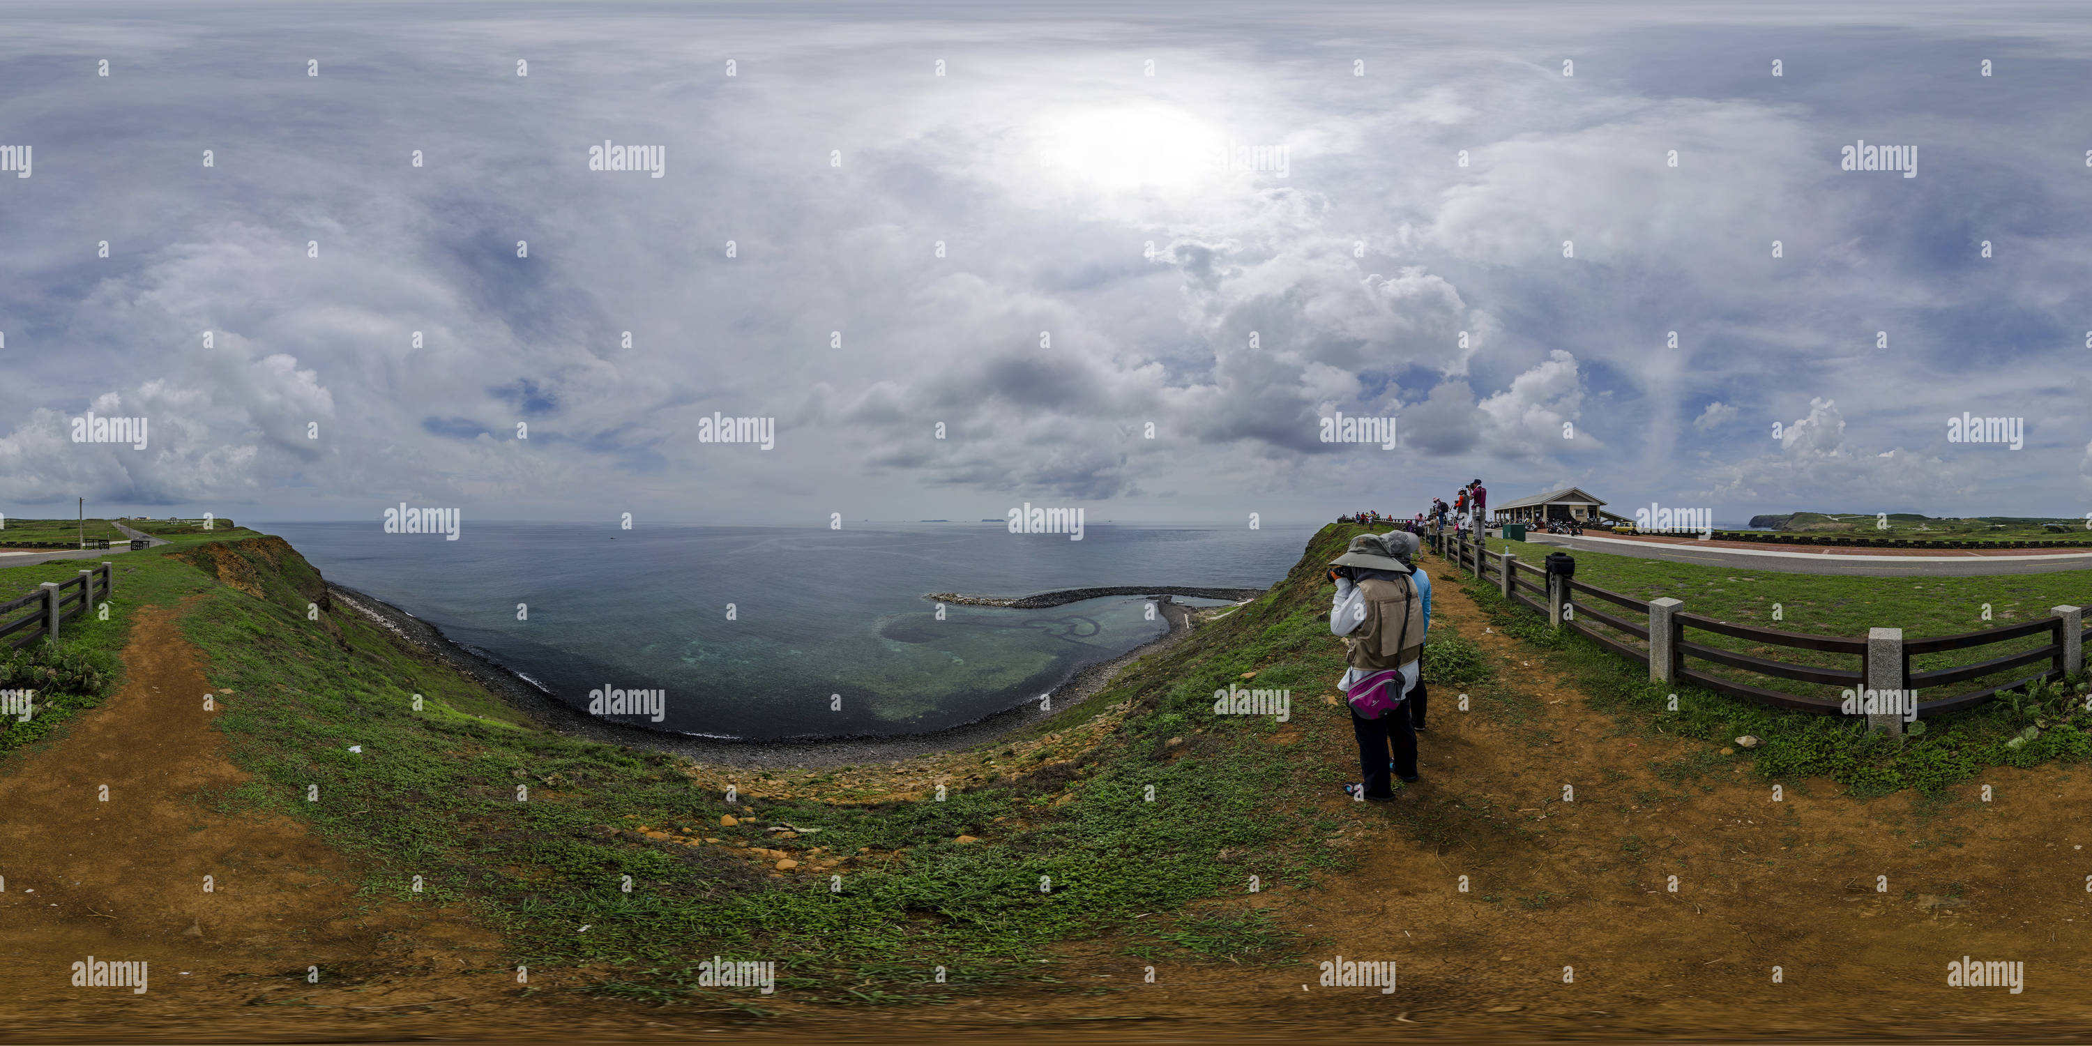
[[[1692,661],[1726,665],[1774,680],[1797,680],[1856,692],[1937,690],[2040,665],[2033,674],[1998,682],[1994,686],[1918,701],[1916,713],[1920,718],[1975,707],[2006,690],[2019,690],[2040,680],[2061,680],[2067,674],[2084,672],[2084,642],[2088,632],[2084,611],[2079,607],[2054,607],[2050,617],[2040,621],[1962,632],[1960,636],[1906,640],[1902,630],[1895,628],[1877,628],[1866,638],[1812,636],[1805,632],[1738,626],[1697,613],[1684,613],[1684,602],[1676,598],[1638,600],[1621,596],[1619,592],[1607,592],[1573,577],[1554,577],[1540,565],[1519,563],[1519,556],[1510,552],[1487,552],[1473,540],[1462,540],[1452,533],[1431,536],[1429,544],[1462,573],[1471,573],[1479,582],[1494,579],[1504,598],[1546,615],[1554,628],[1569,628],[1619,657],[1648,665],[1648,678],[1653,682],[1692,682],[1705,686],[1707,690],[1759,705],[1822,713],[1841,711],[1839,697],[1774,690],[1728,676],[1715,676],[1707,667],[1695,665]],[[1600,609],[1600,602],[1640,615],[1640,619],[1636,621],[1632,617],[1623,617],[1621,613]],[[1755,657],[1713,646],[1709,642],[1695,642],[1688,638],[1688,630],[1730,636],[1759,646],[1784,646],[1795,651],[1814,651],[1818,655],[1858,657],[1858,667],[1812,665]],[[2004,642],[2017,644],[2017,640],[2025,638],[2046,638],[2046,642],[2025,651],[2008,651],[1998,657],[1985,657],[1973,663],[1933,667],[1925,672],[1910,669],[1912,657],[1939,661],[1937,655],[1943,653],[1973,651]],[[1879,722],[1887,724],[1889,720],[1883,718]]]

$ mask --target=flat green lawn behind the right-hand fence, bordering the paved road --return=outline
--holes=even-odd
[[[1500,540],[1490,540],[1487,548],[1492,554],[1508,550],[1517,554],[1521,563],[1536,567],[1548,552],[1559,550],[1536,542]],[[1527,579],[1540,584],[1538,577]],[[1575,579],[1636,600],[1669,596],[1682,600],[1684,611],[1688,613],[1738,626],[1862,640],[1870,628],[1902,628],[1904,640],[1908,642],[1929,636],[1954,636],[1962,632],[2046,619],[2050,607],[2092,607],[2092,571],[2000,573],[1987,577],[1845,577],[1701,567],[1695,563],[1577,550]],[[1525,594],[1531,596],[1531,592]],[[1586,602],[1638,626],[1648,623],[1646,615],[1628,611],[1625,607],[1590,596],[1586,596]],[[1985,605],[1989,611],[1987,621],[1983,619]],[[1778,619],[1774,613],[1778,613]],[[1640,640],[1630,640],[1628,636],[1605,626],[1596,628],[1600,628],[1609,638],[1640,644]],[[1797,665],[1845,669],[1860,667],[1860,659],[1856,655],[1759,644],[1699,630],[1688,630],[1686,638],[1705,646],[1741,651],[1753,657],[1768,657]],[[1931,672],[1939,667],[1969,665],[1975,661],[2004,657],[2006,653],[2031,651],[2036,646],[2044,646],[2046,642],[2046,636],[2025,636],[1969,651],[1918,655],[1910,659],[1910,669]],[[1757,676],[1707,663],[1695,665],[1699,669],[1713,667],[1726,678],[1791,695],[1841,695],[1841,688],[1837,686]],[[2019,667],[1994,674],[1983,680],[1956,684],[1954,692],[1981,690],[2033,672],[2033,667]],[[1948,695],[1925,692],[1920,697],[1931,701]]]

